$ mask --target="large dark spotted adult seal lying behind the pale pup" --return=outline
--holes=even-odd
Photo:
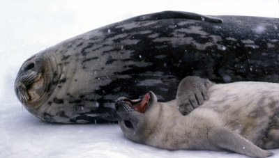
[[[114,100],[147,90],[175,98],[183,77],[278,82],[279,19],[165,11],[47,48],[22,64],[15,93],[52,123],[116,121]]]

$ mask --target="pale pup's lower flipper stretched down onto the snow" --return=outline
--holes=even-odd
[[[273,152],[262,150],[243,136],[225,128],[211,129],[208,140],[212,145],[209,150],[229,150],[250,157],[269,157]]]

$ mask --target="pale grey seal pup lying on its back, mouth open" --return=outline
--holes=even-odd
[[[268,157],[272,152],[262,149],[279,148],[279,84],[208,85],[209,100],[186,116],[179,113],[180,106],[188,104],[185,81],[177,99],[169,102],[158,102],[151,91],[142,100],[120,97],[115,106],[122,132],[131,141],[168,150],[228,150]]]

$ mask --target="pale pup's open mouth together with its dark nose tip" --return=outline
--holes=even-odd
[[[117,112],[129,112],[130,109],[134,109],[140,113],[145,113],[147,109],[151,107],[153,102],[153,93],[149,92],[144,95],[143,99],[130,100],[126,97],[120,97],[116,100],[116,111]]]

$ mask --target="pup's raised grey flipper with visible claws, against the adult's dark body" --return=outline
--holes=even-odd
[[[176,93],[176,105],[180,113],[187,115],[208,100],[208,90],[212,85],[209,79],[200,77],[189,76],[182,79]]]

